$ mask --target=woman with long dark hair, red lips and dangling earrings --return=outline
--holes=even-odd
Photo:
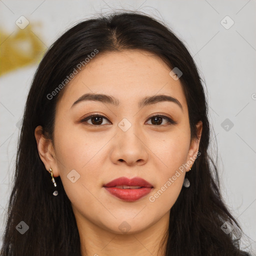
[[[247,255],[208,144],[201,78],[167,27],[78,23],[27,97],[1,255]]]

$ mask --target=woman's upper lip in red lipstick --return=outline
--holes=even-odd
[[[104,184],[103,186],[106,187],[113,187],[118,185],[126,185],[126,186],[141,186],[141,187],[153,187],[152,184],[144,180],[140,177],[133,177],[133,178],[127,178],[127,177],[119,177],[116,179],[113,179],[112,181]]]

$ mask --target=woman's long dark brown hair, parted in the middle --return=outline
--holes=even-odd
[[[190,187],[181,192],[170,210],[165,255],[246,255],[239,249],[241,230],[226,208],[220,192],[216,164],[209,156],[209,122],[202,78],[188,50],[163,23],[133,11],[114,12],[82,21],[61,35],[42,58],[27,97],[18,140],[14,186],[9,198],[2,256],[79,256],[76,221],[60,177],[55,181],[58,196],[37,151],[34,129],[53,141],[55,107],[65,86],[52,98],[77,64],[91,52],[97,54],[124,49],[154,53],[169,66],[182,71],[179,78],[185,94],[191,139],[195,124],[202,121],[200,155],[186,173]],[[52,95],[52,94],[51,94]],[[16,226],[24,221],[29,229],[21,234]],[[225,233],[229,221],[234,229]]]

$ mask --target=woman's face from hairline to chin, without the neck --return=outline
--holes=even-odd
[[[137,232],[169,214],[180,190],[189,189],[182,183],[199,141],[190,143],[185,96],[169,72],[145,51],[99,52],[66,85],[56,106],[53,158],[45,166],[60,175],[77,221]],[[108,96],[77,102],[87,93]],[[145,100],[158,95],[176,102]],[[85,119],[90,115],[100,116]],[[119,177],[140,177],[152,188],[104,187]]]

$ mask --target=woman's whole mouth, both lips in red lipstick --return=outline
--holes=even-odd
[[[141,186],[141,188],[117,188],[118,185],[127,185],[127,186]],[[148,194],[153,188],[152,184],[144,180],[143,178],[134,177],[120,177],[116,178],[107,184],[104,184],[103,187],[110,192],[112,195],[125,200],[125,201],[135,201],[139,198]]]

